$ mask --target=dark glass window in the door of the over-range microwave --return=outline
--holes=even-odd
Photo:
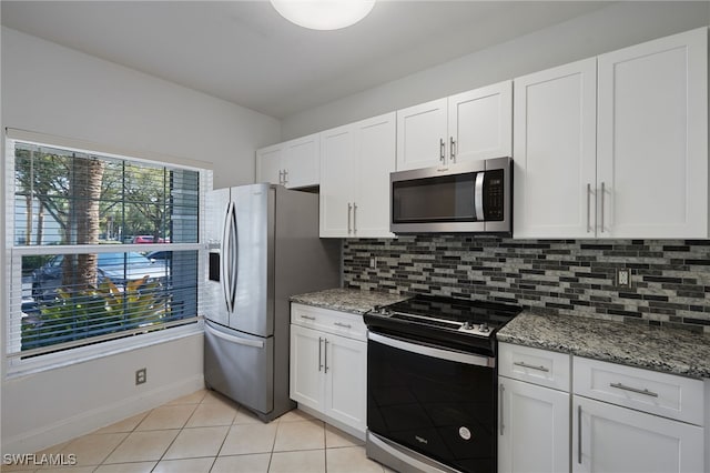
[[[394,182],[393,222],[475,222],[475,172]]]

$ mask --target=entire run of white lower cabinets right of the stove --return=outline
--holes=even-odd
[[[509,343],[498,363],[498,472],[708,472],[710,382]]]

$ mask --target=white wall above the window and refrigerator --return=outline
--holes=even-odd
[[[186,66],[189,67],[189,66]],[[4,127],[214,163],[214,187],[252,183],[276,119],[2,28]]]

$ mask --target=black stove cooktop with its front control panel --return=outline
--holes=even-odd
[[[495,333],[515,318],[517,305],[416,295],[364,315],[368,329],[467,352],[495,353]]]

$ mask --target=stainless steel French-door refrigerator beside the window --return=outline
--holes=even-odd
[[[290,303],[339,286],[339,242],[318,239],[318,195],[253,184],[207,193],[204,378],[271,421],[288,397]]]

